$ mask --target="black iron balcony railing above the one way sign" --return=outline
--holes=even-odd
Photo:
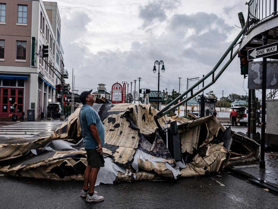
[[[254,26],[277,15],[277,0],[251,0],[248,2],[248,17],[245,35]]]

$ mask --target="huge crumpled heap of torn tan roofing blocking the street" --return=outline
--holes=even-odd
[[[103,102],[101,102],[103,103]],[[29,143],[0,145],[0,172],[55,180],[83,180],[86,152],[78,107],[51,136]],[[105,127],[105,167],[96,185],[160,177],[190,177],[220,172],[234,161],[259,157],[254,140],[225,128],[214,116],[196,120],[164,116],[145,104],[94,104]]]

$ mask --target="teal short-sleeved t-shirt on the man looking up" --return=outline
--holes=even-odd
[[[85,149],[96,149],[96,146],[98,146],[98,143],[92,136],[91,131],[89,129],[89,126],[91,124],[96,125],[96,128],[98,129],[98,135],[102,143],[102,147],[104,147],[104,126],[100,120],[98,113],[93,109],[92,106],[83,105],[81,107],[81,110],[79,112],[79,122]]]

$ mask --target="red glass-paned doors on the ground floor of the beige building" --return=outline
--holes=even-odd
[[[7,118],[13,111],[18,116],[22,114],[24,89],[0,88],[0,95],[0,117]],[[9,101],[9,98],[11,98],[11,101]],[[15,109],[12,107],[14,102],[17,102]]]

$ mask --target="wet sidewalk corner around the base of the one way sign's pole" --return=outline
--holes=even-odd
[[[228,166],[228,169],[278,194],[278,153],[266,152],[265,161],[265,169],[260,169],[259,161],[232,164]]]

